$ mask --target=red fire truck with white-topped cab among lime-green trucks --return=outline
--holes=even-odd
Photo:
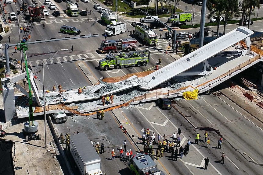
[[[136,49],[137,40],[134,38],[119,39],[119,40],[103,40],[98,49],[100,53],[112,53],[118,51],[131,51]]]

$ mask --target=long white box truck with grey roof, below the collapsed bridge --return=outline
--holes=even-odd
[[[103,175],[101,159],[84,132],[70,135],[70,153],[81,175]]]

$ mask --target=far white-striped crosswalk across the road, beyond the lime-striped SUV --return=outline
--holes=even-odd
[[[53,18],[53,17],[52,17]],[[46,18],[48,19],[48,18]],[[97,21],[100,18],[89,18],[89,21]],[[34,25],[43,25],[43,24],[54,24],[54,23],[71,23],[71,22],[87,22],[87,18],[70,18],[70,19],[54,19],[46,20],[41,22],[34,22]],[[18,24],[10,24],[12,28],[18,27]],[[20,21],[20,26],[27,26],[26,21]]]

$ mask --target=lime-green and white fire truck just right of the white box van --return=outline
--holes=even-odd
[[[146,44],[154,45],[154,42],[158,44],[157,34],[144,24],[137,24],[135,26],[135,35],[144,40]]]

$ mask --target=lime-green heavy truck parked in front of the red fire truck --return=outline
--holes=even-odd
[[[125,68],[132,66],[146,66],[150,59],[150,50],[134,52],[119,52],[119,55],[107,54],[106,58],[99,61],[101,70],[109,70],[109,68]]]

